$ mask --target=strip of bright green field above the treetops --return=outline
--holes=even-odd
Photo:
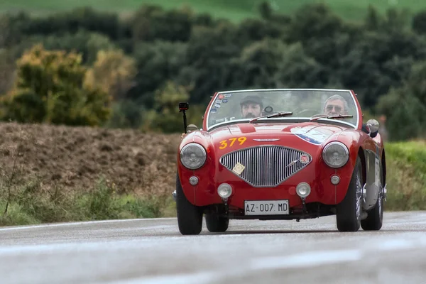
[[[0,12],[24,9],[35,14],[63,11],[77,6],[93,6],[104,11],[117,11],[122,14],[135,11],[142,4],[159,4],[172,9],[188,4],[198,13],[208,12],[215,17],[241,21],[247,17],[257,17],[257,5],[261,0],[1,0]],[[318,2],[315,0],[271,0],[273,7],[281,13],[291,14],[302,4]],[[361,21],[369,4],[383,13],[389,7],[407,8],[411,12],[426,9],[426,1],[420,0],[324,0],[340,16],[350,21]]]

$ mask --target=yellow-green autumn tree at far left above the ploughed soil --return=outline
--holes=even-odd
[[[17,80],[3,102],[2,119],[99,126],[110,114],[110,97],[83,86],[82,56],[35,45],[17,61]]]

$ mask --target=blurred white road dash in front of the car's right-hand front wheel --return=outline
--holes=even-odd
[[[341,263],[342,261],[359,261],[361,257],[362,252],[356,249],[346,251],[310,251],[307,253],[296,253],[290,256],[258,258],[251,262],[251,268],[303,268],[322,266],[330,263]]]

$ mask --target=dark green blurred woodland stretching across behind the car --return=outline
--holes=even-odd
[[[291,16],[265,1],[257,8],[257,18],[239,23],[187,7],[141,6],[124,19],[90,8],[38,18],[6,14],[0,18],[0,76],[13,80],[14,73],[4,70],[42,43],[47,50],[81,55],[89,70],[84,86],[113,98],[104,126],[181,131],[180,115],[168,107],[177,99],[188,98],[200,124],[200,109],[219,90],[332,87],[354,89],[369,114],[386,114],[392,140],[422,136],[425,11],[411,17],[369,7],[362,21],[351,23],[324,4],[302,6]],[[17,91],[0,78],[0,92],[10,97]],[[19,92],[40,106],[24,117],[43,114],[28,89]]]

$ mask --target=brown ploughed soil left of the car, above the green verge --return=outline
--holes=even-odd
[[[84,191],[103,177],[119,192],[173,191],[179,135],[14,123],[1,123],[0,133],[2,180],[16,160],[19,183]]]

